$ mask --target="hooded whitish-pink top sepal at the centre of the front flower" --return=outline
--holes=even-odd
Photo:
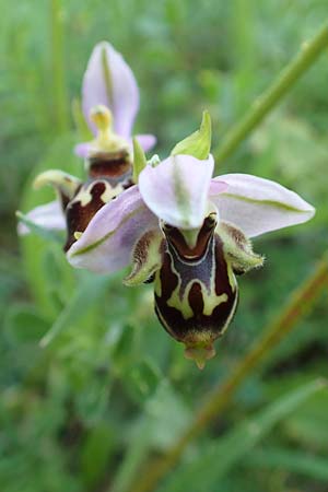
[[[164,222],[181,229],[199,227],[207,211],[213,167],[212,155],[204,161],[191,155],[171,156],[141,172],[140,194]]]

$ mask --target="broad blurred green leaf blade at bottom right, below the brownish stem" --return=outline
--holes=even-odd
[[[323,380],[315,380],[279,398],[257,417],[242,422],[225,436],[202,449],[197,460],[180,467],[160,491],[183,492],[192,484],[192,492],[202,492],[216,487],[274,424],[324,388],[327,386]]]

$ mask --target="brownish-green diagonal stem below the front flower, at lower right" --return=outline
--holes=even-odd
[[[316,300],[327,286],[328,251],[317,265],[315,271],[291,295],[281,314],[263,330],[260,339],[236,364],[232,374],[210,393],[190,426],[175,446],[165,456],[149,464],[147,472],[140,473],[141,479],[133,484],[133,492],[151,492],[155,490],[160,480],[178,462],[188,444],[222,414],[241,383],[259,365],[280,340],[286,337],[297,321],[315,306]]]

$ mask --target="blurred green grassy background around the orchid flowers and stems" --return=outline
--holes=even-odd
[[[141,90],[136,132],[155,133],[165,156],[204,108],[218,145],[325,16],[326,0],[1,1],[1,492],[132,491],[139,466],[174,443],[327,247],[327,51],[221,166],[278,180],[317,214],[254,242],[266,266],[241,278],[238,313],[203,372],[157,323],[151,286],[121,286],[124,272],[73,271],[60,245],[19,241],[14,211],[52,197],[32,191],[32,178],[49,167],[82,173],[71,109],[93,46],[107,39],[124,54]],[[188,449],[180,481],[172,473],[156,490],[327,492],[327,391],[277,417],[220,478],[204,480],[225,453],[222,436],[328,375],[327,313],[326,293]],[[40,348],[50,328],[57,335]]]

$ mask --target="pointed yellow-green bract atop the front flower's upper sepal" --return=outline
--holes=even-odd
[[[208,112],[203,112],[200,129],[177,143],[171,155],[187,154],[196,159],[208,159],[211,150],[211,117]]]

